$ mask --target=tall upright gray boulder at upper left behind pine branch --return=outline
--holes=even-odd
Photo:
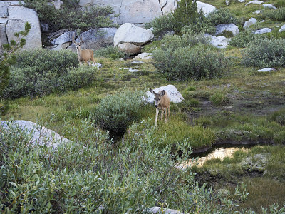
[[[26,45],[23,49],[41,48],[41,25],[36,11],[24,6],[9,6],[8,14],[8,24],[6,25],[8,41],[16,40],[14,33],[23,31],[25,23],[28,21],[31,24],[31,29],[25,36]]]

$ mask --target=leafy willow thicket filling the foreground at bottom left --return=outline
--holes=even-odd
[[[189,148],[177,143],[180,157],[169,147],[158,150],[153,131],[145,123],[140,135],[115,150],[108,135],[86,120],[73,128],[86,136],[83,141],[52,149],[31,143],[18,128],[0,128],[1,208],[7,213],[144,213],[169,205],[185,213],[230,213],[246,198],[244,189],[227,198],[195,185],[190,168],[177,168]]]

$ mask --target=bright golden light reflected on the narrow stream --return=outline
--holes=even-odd
[[[224,160],[224,158],[229,157],[232,158],[233,154],[235,151],[242,150],[242,151],[248,151],[248,148],[245,147],[231,147],[231,148],[215,148],[214,151],[211,153],[207,154],[207,156],[202,156],[202,157],[197,157],[197,158],[192,158],[186,163],[177,165],[177,168],[185,169],[189,166],[194,166],[197,165],[198,167],[201,167],[204,165],[204,163],[208,160],[214,159],[214,158],[219,158]]]

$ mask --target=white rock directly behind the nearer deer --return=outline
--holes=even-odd
[[[170,97],[170,101],[173,103],[181,103],[184,98],[182,94],[177,91],[177,88],[173,85],[167,85],[167,86],[162,86],[160,88],[155,88],[153,91],[155,93],[158,93],[159,91],[165,90]],[[150,91],[147,91],[147,103],[153,103],[155,96],[150,93]]]

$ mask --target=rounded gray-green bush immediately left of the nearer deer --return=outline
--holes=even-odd
[[[139,117],[139,110],[144,105],[144,93],[125,91],[107,96],[98,104],[95,121],[112,135],[122,135],[125,129]]]

